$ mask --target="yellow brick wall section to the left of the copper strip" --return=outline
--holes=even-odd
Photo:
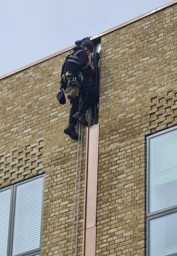
[[[56,98],[66,55],[0,81],[0,186],[46,174],[41,255],[67,255],[71,245],[77,142],[63,133],[68,126],[69,101],[60,107]],[[86,141],[81,169],[80,222],[83,218],[85,144]],[[79,232],[81,230],[82,223]],[[80,250],[81,242],[78,244]]]

